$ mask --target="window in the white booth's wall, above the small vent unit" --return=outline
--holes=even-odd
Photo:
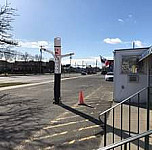
[[[139,63],[139,55],[135,56],[122,56],[121,73],[123,74],[136,74],[144,73],[144,63]]]

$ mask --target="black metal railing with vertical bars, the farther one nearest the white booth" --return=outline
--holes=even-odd
[[[115,122],[115,109],[117,107],[120,107],[120,129],[119,129],[119,133],[120,133],[120,141],[123,140],[123,119],[124,117],[126,117],[126,114],[123,114],[124,111],[124,105],[128,105],[128,110],[127,110],[127,116],[128,116],[128,131],[125,130],[125,132],[128,133],[128,137],[131,137],[131,117],[132,117],[132,114],[131,114],[131,107],[132,106],[136,106],[137,107],[137,133],[136,134],[139,134],[140,133],[140,108],[141,107],[144,107],[145,110],[146,110],[146,131],[150,130],[150,99],[152,99],[151,97],[151,87],[146,87],[146,88],[143,88],[141,89],[140,91],[138,91],[137,93],[131,95],[130,97],[128,97],[127,99],[123,100],[122,102],[114,105],[113,107],[109,108],[108,110],[102,112],[100,115],[99,115],[99,119],[103,122],[104,124],[104,147],[107,146],[107,144],[109,145],[109,143],[107,143],[107,133],[108,132],[112,132],[112,143],[115,143],[115,130],[116,130],[116,122]],[[142,93],[145,92],[146,93],[146,103],[145,104],[141,104],[141,95]],[[134,98],[137,98],[137,101],[136,103],[133,103],[133,99]],[[111,122],[112,122],[112,125],[108,125],[107,124],[107,118],[108,118],[108,114],[112,111],[112,119]],[[110,129],[110,130],[109,130]],[[128,138],[126,137],[126,138]],[[112,144],[111,143],[111,144]],[[130,148],[130,142],[129,143],[129,150],[131,149]],[[149,136],[146,136],[145,137],[145,144],[146,145],[149,145]],[[137,148],[139,150],[139,140],[138,140],[138,143],[137,143]],[[121,149],[122,149],[122,146],[121,146]],[[148,148],[146,150],[149,150]]]

